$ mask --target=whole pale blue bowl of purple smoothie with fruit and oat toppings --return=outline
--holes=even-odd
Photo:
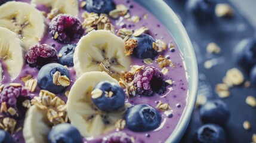
[[[178,142],[192,44],[163,1],[1,1],[4,142]]]

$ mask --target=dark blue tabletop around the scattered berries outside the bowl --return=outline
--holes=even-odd
[[[215,85],[222,82],[227,70],[238,67],[232,59],[233,49],[242,39],[252,37],[255,29],[238,10],[235,10],[235,17],[233,18],[215,17],[209,23],[199,24],[195,18],[186,13],[185,1],[164,1],[181,17],[193,43],[199,66],[199,94],[206,95],[209,99],[218,98],[214,92]],[[222,2],[229,3],[227,1]],[[221,54],[207,54],[206,46],[209,42],[217,43],[221,47]],[[211,59],[216,60],[218,64],[210,70],[205,69],[203,63]],[[244,75],[245,79],[248,80],[248,74]],[[230,109],[230,119],[224,127],[227,142],[252,142],[252,134],[256,133],[256,108],[249,107],[245,103],[245,98],[248,95],[256,97],[255,91],[255,86],[249,88],[245,88],[243,85],[235,86],[230,89],[230,97],[222,98]],[[250,130],[243,129],[245,120],[251,123]],[[201,125],[203,124],[199,118],[199,110],[198,107],[195,107],[190,125],[181,142],[193,142],[192,135]]]

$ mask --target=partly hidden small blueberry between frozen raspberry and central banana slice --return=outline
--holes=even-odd
[[[58,58],[58,63],[62,64],[63,66],[73,67],[73,55],[75,52],[76,45],[66,45],[60,49],[58,54],[61,54],[61,57]]]

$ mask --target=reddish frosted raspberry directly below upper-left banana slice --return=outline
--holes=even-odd
[[[57,51],[47,44],[32,46],[26,54],[30,67],[41,69],[48,63],[57,63]]]

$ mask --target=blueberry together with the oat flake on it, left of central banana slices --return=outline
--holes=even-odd
[[[38,86],[41,89],[60,94],[70,85],[69,71],[58,63],[47,64],[39,70]]]

